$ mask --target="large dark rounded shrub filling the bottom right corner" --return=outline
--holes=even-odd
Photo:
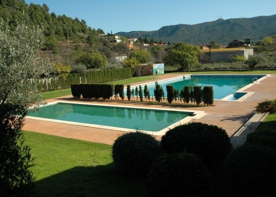
[[[275,195],[276,152],[261,145],[242,145],[226,158],[225,171],[231,190],[244,196]]]

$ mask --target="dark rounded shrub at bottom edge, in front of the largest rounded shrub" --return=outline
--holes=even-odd
[[[211,178],[205,164],[187,152],[162,155],[146,180],[149,197],[209,197]]]

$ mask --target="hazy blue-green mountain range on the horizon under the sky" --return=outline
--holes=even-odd
[[[276,34],[276,14],[253,18],[218,19],[196,25],[164,26],[157,31],[118,32],[126,37],[147,37],[154,40],[163,39],[167,42],[185,41],[193,44],[209,43],[215,40],[219,44],[227,45],[235,39],[251,39],[253,42],[262,40],[265,36]]]

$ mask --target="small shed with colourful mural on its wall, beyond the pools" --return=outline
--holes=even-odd
[[[145,64],[136,66],[136,76],[164,74],[164,64]]]

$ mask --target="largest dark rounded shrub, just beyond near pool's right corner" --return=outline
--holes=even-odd
[[[188,151],[194,153],[207,165],[223,164],[227,154],[233,150],[230,137],[222,128],[203,123],[180,125],[167,131],[161,139],[166,153]]]

